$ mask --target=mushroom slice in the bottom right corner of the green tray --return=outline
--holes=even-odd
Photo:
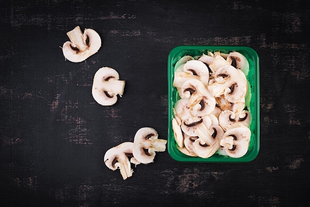
[[[248,152],[251,138],[251,131],[242,124],[231,126],[220,140],[228,156],[239,158]]]

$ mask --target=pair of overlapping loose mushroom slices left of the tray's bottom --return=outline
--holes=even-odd
[[[131,163],[148,164],[153,162],[155,152],[166,150],[167,140],[159,139],[155,129],[144,127],[137,131],[134,141],[123,142],[108,149],[103,157],[105,165],[111,169],[120,169],[123,179],[132,176]]]

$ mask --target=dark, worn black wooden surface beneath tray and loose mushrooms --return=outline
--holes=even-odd
[[[1,207],[308,206],[307,1],[5,1],[0,8]],[[99,52],[65,61],[79,25]],[[168,151],[122,180],[107,149],[153,127],[167,138],[167,56],[178,45],[249,46],[260,60],[260,150],[250,163],[181,163]],[[114,106],[92,79],[126,80]]]

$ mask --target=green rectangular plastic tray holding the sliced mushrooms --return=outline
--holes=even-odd
[[[174,66],[178,60],[185,55],[199,56],[207,51],[222,53],[229,53],[232,51],[243,54],[249,61],[250,69],[248,74],[248,81],[250,84],[251,94],[248,96],[249,112],[252,115],[250,125],[251,139],[247,154],[240,158],[232,158],[214,154],[208,158],[192,157],[183,154],[176,147],[172,130],[173,107],[178,99],[180,99],[176,88],[172,86],[174,78]],[[246,97],[247,99],[247,97]],[[258,54],[255,50],[249,47],[235,47],[235,46],[178,46],[172,49],[168,56],[168,153],[177,161],[181,162],[250,162],[254,160],[259,151],[259,63]]]

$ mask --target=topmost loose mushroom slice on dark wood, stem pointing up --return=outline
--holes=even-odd
[[[79,26],[67,32],[70,41],[62,46],[64,57],[74,63],[85,61],[101,48],[101,38],[93,29],[85,29],[82,33]]]

